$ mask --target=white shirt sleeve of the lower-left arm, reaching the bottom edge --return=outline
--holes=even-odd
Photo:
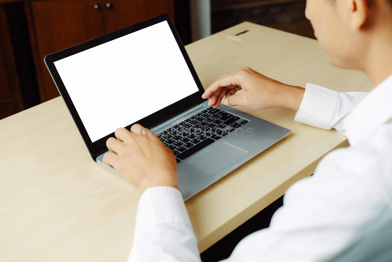
[[[128,262],[200,262],[197,239],[181,193],[174,187],[143,192]]]

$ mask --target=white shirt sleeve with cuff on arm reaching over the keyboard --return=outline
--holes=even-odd
[[[327,130],[335,128],[340,134],[345,135],[344,117],[367,94],[337,92],[308,83],[294,120]]]

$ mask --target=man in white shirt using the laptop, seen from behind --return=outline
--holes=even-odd
[[[364,71],[375,88],[304,89],[250,68],[207,88],[214,108],[223,97],[230,106],[285,106],[298,111],[294,120],[336,128],[350,143],[290,187],[270,227],[244,238],[227,261],[392,261],[392,1],[308,0],[305,13],[330,62]],[[103,158],[143,192],[129,261],[200,261],[174,156],[141,129],[116,130]]]

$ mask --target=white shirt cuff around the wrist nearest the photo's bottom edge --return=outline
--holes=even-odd
[[[178,222],[192,227],[180,191],[168,186],[150,187],[139,200],[134,241],[151,227]]]

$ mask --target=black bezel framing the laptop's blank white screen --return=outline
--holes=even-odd
[[[169,24],[169,27],[172,31],[172,34],[174,38],[176,39],[176,42],[178,44],[178,47],[180,48],[180,51],[188,65],[189,71],[191,71],[192,77],[198,87],[198,91],[181,99],[180,101],[177,101],[176,103],[173,103],[157,112],[154,114],[148,115],[147,117],[144,117],[143,119],[140,119],[134,123],[130,123],[128,126],[124,126],[125,128],[129,129],[133,124],[138,123],[142,126],[145,127],[152,127],[159,125],[160,123],[163,123],[164,121],[174,117],[175,115],[180,114],[181,112],[184,112],[185,110],[188,110],[189,108],[192,108],[193,106],[202,103],[205,101],[205,99],[201,98],[201,94],[204,92],[203,86],[201,85],[200,79],[192,65],[191,59],[188,56],[187,51],[185,50],[184,45],[181,42],[180,37],[178,36],[178,33],[174,27],[174,24],[171,21],[171,18],[168,14],[162,14],[153,18],[150,18],[148,20],[145,20],[143,22],[140,22],[138,24],[134,24],[132,26],[125,27],[123,29],[114,31],[112,33],[108,33],[106,35],[103,35],[101,37],[94,38],[92,40],[89,40],[87,42],[83,42],[81,44],[78,44],[76,46],[72,46],[70,48],[58,51],[56,53],[47,55],[44,58],[45,64],[49,70],[49,72],[52,75],[53,81],[56,84],[58,91],[60,92],[60,95],[64,99],[65,104],[67,105],[67,108],[69,112],[72,115],[72,118],[82,135],[83,141],[86,144],[89,153],[91,157],[96,161],[96,157],[102,154],[107,150],[106,147],[106,140],[109,137],[114,137],[114,131],[111,134],[108,134],[107,136],[104,136],[97,141],[92,142],[89,135],[87,134],[87,131],[85,129],[85,126],[82,123],[82,120],[80,119],[80,116],[78,112],[76,111],[76,108],[71,100],[71,97],[69,97],[69,94],[67,92],[67,89],[64,86],[64,83],[58,74],[58,71],[56,70],[56,67],[54,66],[54,62],[60,59],[63,59],[65,57],[69,57],[71,55],[74,55],[76,53],[80,53],[82,51],[85,51],[87,49],[93,48],[94,46],[98,46],[100,44],[103,44],[105,42],[109,42],[111,40],[114,40],[119,37],[123,37],[124,35],[136,32],[138,30],[141,30],[145,27],[152,26],[154,24],[167,21]],[[159,41],[159,39],[158,39]],[[110,92],[110,90],[108,90]],[[147,99],[146,99],[147,101]],[[105,104],[102,104],[102,109],[104,110]],[[99,112],[97,112],[99,114]],[[102,119],[104,121],[104,119]]]

